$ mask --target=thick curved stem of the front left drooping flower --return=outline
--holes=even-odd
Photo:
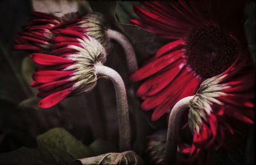
[[[116,106],[118,110],[119,149],[120,152],[130,150],[131,129],[124,81],[122,80],[122,77],[112,68],[103,65],[95,65],[95,70],[97,74],[107,76],[114,84]]]

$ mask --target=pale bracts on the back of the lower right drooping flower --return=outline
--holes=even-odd
[[[188,124],[191,131],[200,132],[202,120],[208,122],[208,116],[212,113],[212,104],[223,106],[223,102],[216,99],[225,96],[222,90],[229,88],[228,84],[219,84],[227,75],[216,75],[206,79],[201,85],[196,95],[189,102]]]

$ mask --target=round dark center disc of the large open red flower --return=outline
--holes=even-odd
[[[236,40],[214,24],[193,28],[186,36],[188,65],[205,79],[230,67],[236,60],[238,50]]]

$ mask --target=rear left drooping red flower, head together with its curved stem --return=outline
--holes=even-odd
[[[95,38],[104,46],[106,52],[109,51],[109,39],[116,40],[124,48],[128,71],[134,72],[138,69],[136,55],[131,43],[122,33],[108,29],[101,13],[88,13],[74,19],[70,19],[69,15],[55,17],[47,13],[32,12],[28,24],[22,28],[22,33],[15,38],[16,45],[13,48],[29,53],[49,53],[54,43],[66,42],[67,38],[58,36],[58,33],[67,29]]]

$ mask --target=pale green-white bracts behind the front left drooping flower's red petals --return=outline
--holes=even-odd
[[[102,65],[106,61],[106,51],[97,40],[90,36],[83,39],[77,38],[77,40],[82,47],[68,46],[68,48],[77,51],[68,56],[68,59],[72,59],[75,63],[64,69],[75,71],[69,79],[69,81],[77,81],[72,85],[72,89],[77,91],[74,92],[74,95],[79,95],[94,88],[97,84],[95,65]]]

